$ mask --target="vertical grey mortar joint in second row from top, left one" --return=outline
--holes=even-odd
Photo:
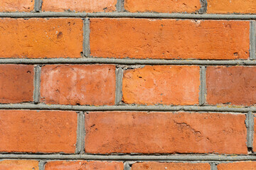
[[[90,57],[90,18],[85,18],[83,23],[83,55]]]

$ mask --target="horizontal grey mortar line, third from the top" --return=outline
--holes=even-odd
[[[198,111],[198,112],[256,112],[256,107],[229,106],[70,106],[46,104],[0,104],[0,109],[61,110],[61,111]]]

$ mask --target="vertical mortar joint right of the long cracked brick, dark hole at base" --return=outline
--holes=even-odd
[[[247,128],[247,148],[248,152],[252,152],[253,134],[254,134],[254,116],[250,111],[246,115],[245,126]]]

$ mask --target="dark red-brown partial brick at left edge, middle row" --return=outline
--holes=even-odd
[[[0,103],[33,101],[33,65],[0,65]]]

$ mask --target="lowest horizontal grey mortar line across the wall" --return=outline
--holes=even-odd
[[[95,154],[0,154],[0,159],[86,159],[112,161],[247,161],[254,155],[95,155]]]

